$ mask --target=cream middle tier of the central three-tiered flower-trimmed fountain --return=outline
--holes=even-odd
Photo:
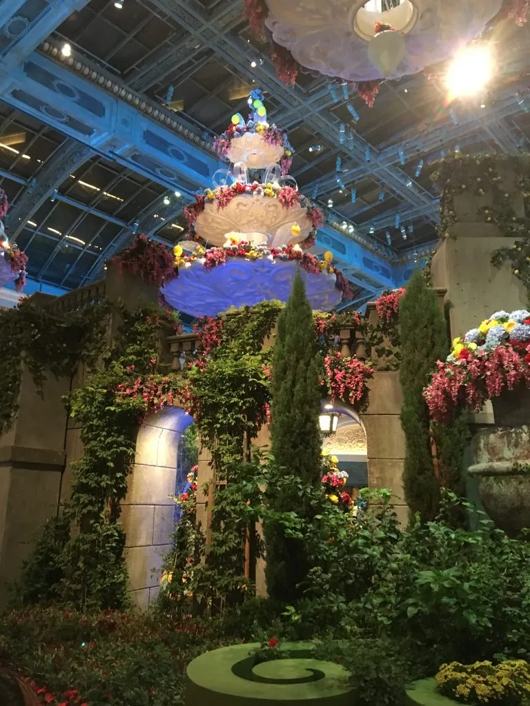
[[[293,235],[293,225],[300,227],[300,233]],[[280,247],[301,243],[312,230],[306,208],[298,204],[284,208],[277,198],[245,193],[232,198],[225,208],[218,209],[216,201],[206,202],[194,227],[199,237],[215,246],[223,246],[228,233],[237,233],[240,240]]]

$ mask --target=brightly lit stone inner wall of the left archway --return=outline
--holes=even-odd
[[[184,489],[186,481],[179,478],[179,448],[192,421],[184,409],[167,407],[151,415],[136,438],[121,522],[126,532],[129,590],[141,608],[147,609],[160,590],[160,567],[174,527],[173,496]]]

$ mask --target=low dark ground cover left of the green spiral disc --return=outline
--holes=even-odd
[[[206,630],[199,621],[163,614],[55,607],[0,618],[1,657],[53,695],[52,704],[182,705],[187,664],[222,645],[213,623]]]

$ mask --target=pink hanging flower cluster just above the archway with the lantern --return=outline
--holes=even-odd
[[[343,400],[363,410],[368,401],[367,381],[372,368],[358,358],[343,358],[334,352],[324,358],[331,401]]]

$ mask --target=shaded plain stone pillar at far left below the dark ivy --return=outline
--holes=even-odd
[[[18,413],[0,437],[0,605],[49,517],[58,511],[64,471],[69,378],[49,376],[41,396],[23,366]]]

